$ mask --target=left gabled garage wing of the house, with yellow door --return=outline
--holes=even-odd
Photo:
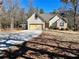
[[[43,30],[45,28],[45,22],[43,19],[36,13],[34,13],[27,20],[28,30]]]

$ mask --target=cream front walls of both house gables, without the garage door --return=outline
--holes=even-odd
[[[30,25],[33,25],[33,24],[43,25],[43,29],[47,27],[45,22],[43,22],[39,17],[35,18],[35,13],[27,20],[27,22],[28,22],[28,29],[30,29]],[[49,28],[53,26],[55,22],[56,22],[56,28],[59,28],[59,29],[67,28],[67,23],[64,20],[60,19],[57,15],[49,21],[49,25],[48,25]],[[64,22],[63,26],[60,25],[61,22]]]

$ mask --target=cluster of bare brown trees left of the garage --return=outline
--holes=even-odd
[[[0,10],[0,28],[17,28],[23,23],[26,13],[19,0],[2,0]]]

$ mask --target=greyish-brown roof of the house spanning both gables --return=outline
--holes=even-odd
[[[34,13],[35,13],[42,21],[44,21],[44,22],[49,22],[49,21],[50,21],[52,18],[54,18],[56,15],[62,19],[62,17],[61,17],[60,15],[58,15],[58,14],[40,14],[40,13],[39,13],[38,11],[36,11],[36,10],[33,11],[33,13],[32,13],[30,16],[28,16],[27,19],[30,18]],[[64,20],[65,22],[67,22],[67,18],[63,18],[62,20]]]

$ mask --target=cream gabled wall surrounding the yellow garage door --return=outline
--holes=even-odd
[[[35,18],[35,13],[27,20],[28,22],[28,29],[30,29],[30,24],[42,24],[43,29],[45,28],[45,22],[43,22],[39,17]]]

